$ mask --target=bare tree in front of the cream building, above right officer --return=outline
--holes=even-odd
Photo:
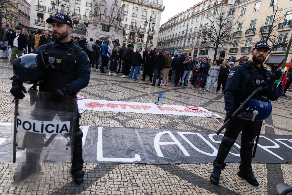
[[[253,39],[253,44],[256,44],[258,41],[265,41],[270,46],[270,51],[285,51],[288,44],[289,39],[287,37],[279,37],[279,34],[275,34],[278,29],[290,28],[292,26],[292,22],[284,22],[281,23],[285,17],[285,14],[282,13],[284,8],[279,8],[279,6],[272,5],[273,15],[270,15],[270,18],[262,23],[260,30],[256,33],[256,39]],[[292,51],[290,49],[290,51]]]

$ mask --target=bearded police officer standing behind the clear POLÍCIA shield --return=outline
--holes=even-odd
[[[73,24],[71,18],[63,13],[56,13],[52,18],[46,20],[53,24],[54,43],[42,45],[33,51],[37,54],[36,61],[40,68],[46,72],[46,77],[39,83],[39,91],[51,92],[51,99],[60,102],[65,96],[74,96],[81,89],[85,88],[90,79],[90,62],[87,54],[74,44],[71,39]],[[46,69],[46,70],[45,70]],[[17,75],[11,78],[11,94],[22,99],[26,92],[22,86],[22,81]],[[76,106],[77,108],[77,106]],[[82,131],[79,128],[79,118],[81,115],[77,111],[77,121],[75,127],[74,149],[72,160],[72,175],[75,183],[82,183],[84,171],[82,158]],[[30,169],[30,158],[27,155],[27,170]],[[29,174],[21,171],[21,178],[25,179]]]

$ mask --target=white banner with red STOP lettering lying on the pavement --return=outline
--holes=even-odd
[[[133,112],[147,114],[171,114],[184,116],[206,117],[206,113],[211,113],[205,108],[198,107],[197,110],[186,108],[185,106],[167,105],[158,106],[154,103],[125,102],[125,101],[105,101],[94,99],[81,99],[77,101],[78,108],[87,108],[92,111],[111,112]],[[212,114],[212,113],[211,113]]]

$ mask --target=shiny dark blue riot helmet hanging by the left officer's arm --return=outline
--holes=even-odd
[[[15,59],[13,73],[22,82],[31,84],[41,82],[46,76],[36,63],[36,54],[25,54]]]

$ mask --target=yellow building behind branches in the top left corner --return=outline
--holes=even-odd
[[[11,29],[15,29],[18,25],[18,0],[4,1],[1,6],[3,9],[1,13],[2,23],[9,24]]]

